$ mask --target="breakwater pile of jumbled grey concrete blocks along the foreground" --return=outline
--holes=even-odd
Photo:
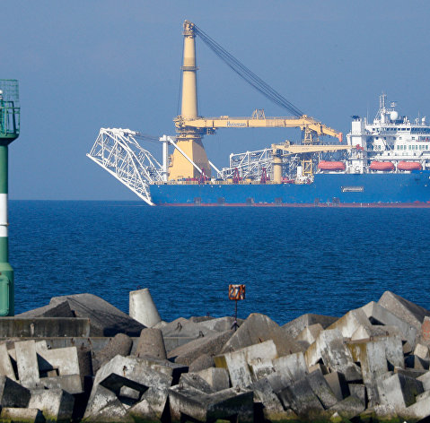
[[[342,317],[163,322],[78,294],[0,319],[0,420],[365,422],[430,419],[430,311],[390,291]]]

